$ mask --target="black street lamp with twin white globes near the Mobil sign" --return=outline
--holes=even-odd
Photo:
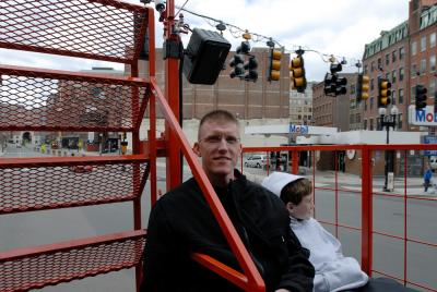
[[[386,126],[387,131],[387,138],[386,143],[390,143],[390,126],[393,127],[393,131],[395,129],[395,122],[397,122],[397,115],[399,113],[398,107],[392,106],[390,109],[390,114],[386,114],[387,110],[386,108],[379,108],[379,124],[381,126],[381,130]],[[389,172],[393,172],[393,151],[387,151],[385,153],[385,160],[386,160],[386,166],[385,166],[385,182],[383,182],[383,188],[382,191],[385,192],[390,192],[391,190],[388,187],[388,174]]]

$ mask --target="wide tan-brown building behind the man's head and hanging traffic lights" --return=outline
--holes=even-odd
[[[225,109],[233,112],[238,119],[281,119],[288,118],[290,107],[290,54],[284,53],[281,59],[281,80],[269,82],[267,80],[269,69],[269,49],[252,48],[251,54],[258,60],[258,81],[246,82],[239,78],[231,78],[228,65],[235,52],[229,51],[225,61],[225,69],[220,73],[213,85],[189,84],[182,77],[181,96],[184,110],[182,118],[200,119],[206,112],[214,109]],[[164,60],[162,49],[156,49],[156,80],[165,90]],[[126,72],[130,66],[126,66]],[[139,64],[140,77],[146,77],[146,61]]]

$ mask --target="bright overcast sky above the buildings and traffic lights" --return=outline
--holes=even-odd
[[[128,0],[140,3],[139,0]],[[182,5],[186,0],[176,0]],[[249,32],[271,36],[286,50],[304,49],[324,54],[345,57],[352,65],[362,59],[365,44],[378,38],[381,31],[389,31],[408,19],[409,0],[189,0],[186,9],[222,20]],[[151,3],[154,5],[154,3]],[[214,31],[211,22],[184,13],[186,23],[193,27]],[[155,17],[157,20],[157,15]],[[156,44],[162,44],[162,25],[156,26]],[[233,50],[243,38],[224,36],[233,44]],[[185,45],[189,36],[182,37]],[[252,47],[265,47],[265,40],[253,42]],[[320,54],[306,52],[305,68],[308,81],[321,81],[329,70]],[[61,70],[91,69],[107,63],[83,60],[64,62],[59,58],[16,53],[0,49],[0,62],[16,65],[33,65]],[[120,64],[109,64],[122,69]],[[351,65],[351,64],[350,64]],[[355,66],[345,68],[356,72]]]

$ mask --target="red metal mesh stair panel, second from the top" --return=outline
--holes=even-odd
[[[146,83],[0,66],[0,131],[132,131]]]

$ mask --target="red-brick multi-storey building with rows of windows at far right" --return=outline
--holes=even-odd
[[[436,90],[436,31],[437,1],[412,0],[409,20],[389,32],[382,31],[378,39],[365,46],[364,73],[370,77],[369,99],[364,105],[363,127],[377,130],[378,78],[391,82],[392,105],[399,109],[397,129],[421,130],[410,125],[409,106],[414,105],[415,86],[428,89],[428,104],[434,105]],[[427,129],[426,129],[427,130]]]

